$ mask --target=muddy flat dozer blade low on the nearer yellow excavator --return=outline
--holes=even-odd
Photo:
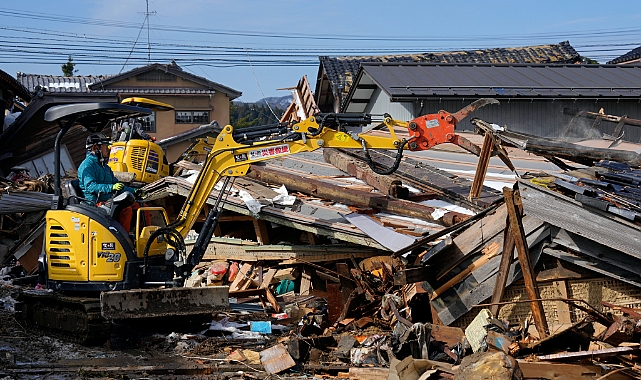
[[[229,309],[229,287],[103,292],[100,306],[102,316],[113,320],[206,314]]]

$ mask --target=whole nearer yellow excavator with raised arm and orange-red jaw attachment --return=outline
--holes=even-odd
[[[228,287],[183,285],[205,253],[230,177],[244,176],[256,162],[325,147],[362,149],[367,156],[370,149],[397,151],[391,168],[381,169],[370,160],[372,168],[381,174],[398,167],[404,149],[426,150],[455,143],[478,153],[479,148],[458,136],[454,126],[474,109],[495,102],[482,99],[454,114],[439,111],[410,122],[394,120],[389,115],[319,114],[297,123],[251,130],[236,131],[227,125],[218,136],[209,139],[211,151],[176,220],[168,220],[161,207],[143,206],[137,211],[133,235],[118,224],[115,215],[118,205],[132,201],[128,193],[114,198],[111,204],[107,202],[105,209],[84,204],[79,189],[72,189],[67,197],[62,195],[60,141],[76,124],[98,132],[114,118],[139,117],[151,111],[118,103],[53,107],[44,116],[47,122],[61,127],[54,152],[55,194],[52,208],[46,213],[41,258],[42,283],[48,291],[23,292],[16,310],[41,328],[64,331],[67,337],[88,342],[105,332],[108,321],[206,314],[228,308]],[[386,127],[389,136],[359,132],[376,123]],[[409,137],[397,137],[394,127],[407,128]],[[187,255],[183,239],[222,177],[223,190]]]

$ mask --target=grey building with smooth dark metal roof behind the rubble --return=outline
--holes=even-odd
[[[387,112],[411,120],[439,110],[456,112],[488,97],[501,104],[483,107],[474,117],[515,132],[560,137],[573,110],[640,119],[641,66],[361,63],[341,111]],[[587,137],[593,123],[575,121],[570,136]],[[615,126],[604,121],[600,129],[612,133]],[[460,123],[457,129],[472,125]],[[639,129],[625,126],[623,138],[639,142]]]

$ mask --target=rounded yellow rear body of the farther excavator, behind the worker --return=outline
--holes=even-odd
[[[109,167],[132,173],[134,181],[152,183],[169,175],[167,157],[160,145],[148,140],[117,141],[111,145]]]

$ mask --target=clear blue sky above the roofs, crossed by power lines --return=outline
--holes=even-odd
[[[171,59],[241,91],[284,96],[318,56],[379,55],[569,41],[605,63],[641,46],[636,1],[31,0],[0,6],[0,69],[117,74]],[[149,28],[147,27],[149,26]],[[149,45],[148,45],[149,42]]]

